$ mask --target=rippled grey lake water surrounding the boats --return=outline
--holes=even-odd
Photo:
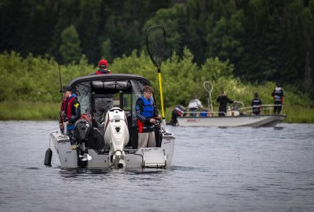
[[[314,124],[170,126],[157,172],[62,170],[55,152],[45,167],[49,131],[34,133],[57,124],[0,122],[0,211],[313,211]]]

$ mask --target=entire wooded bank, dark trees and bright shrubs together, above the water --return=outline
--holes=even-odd
[[[314,1],[0,0],[0,119],[57,119],[62,83],[91,74],[100,58],[112,73],[137,73],[158,91],[146,30],[163,25],[165,112],[197,94],[250,105],[284,88],[286,122],[314,122]],[[156,92],[156,99],[160,97]],[[16,112],[13,114],[11,108]]]

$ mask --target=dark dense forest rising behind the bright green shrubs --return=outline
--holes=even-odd
[[[113,61],[145,49],[147,28],[158,24],[167,58],[187,47],[199,66],[219,57],[243,81],[294,84],[314,96],[313,13],[313,0],[0,0],[0,52]]]

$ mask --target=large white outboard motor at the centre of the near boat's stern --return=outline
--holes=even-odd
[[[113,107],[105,117],[105,143],[110,146],[112,167],[124,168],[124,146],[129,142],[129,129],[124,110]]]

